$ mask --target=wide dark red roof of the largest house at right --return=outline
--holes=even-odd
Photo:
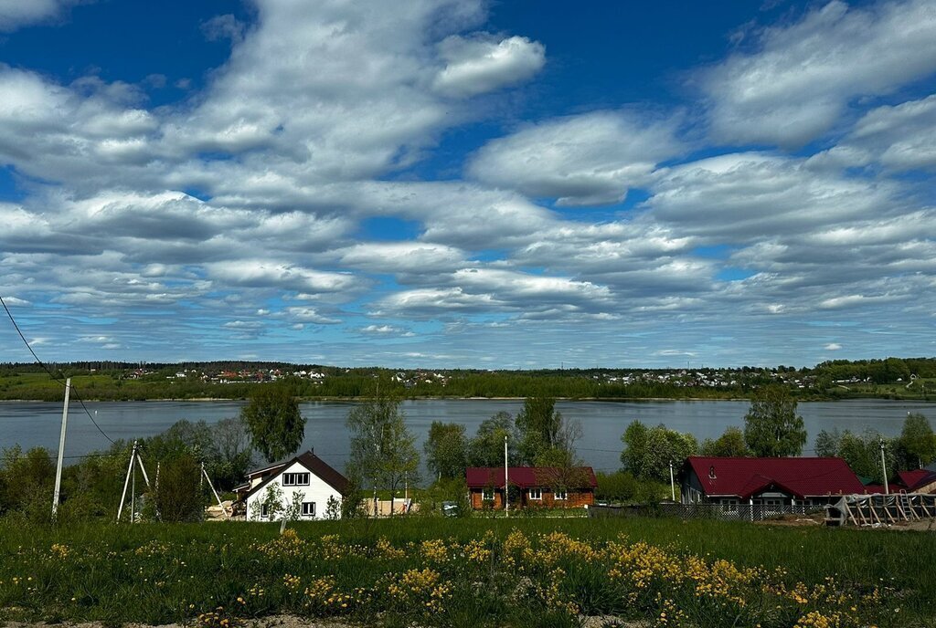
[[[691,456],[692,469],[707,495],[744,499],[774,488],[799,498],[865,492],[841,458],[711,458]]]

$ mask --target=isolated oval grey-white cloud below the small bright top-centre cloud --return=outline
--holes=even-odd
[[[596,111],[495,139],[477,152],[468,173],[561,206],[607,205],[645,185],[656,164],[680,150],[673,121]]]

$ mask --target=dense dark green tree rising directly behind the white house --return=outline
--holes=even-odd
[[[241,408],[254,449],[268,463],[295,453],[305,435],[305,419],[288,388],[259,385],[250,401]]]

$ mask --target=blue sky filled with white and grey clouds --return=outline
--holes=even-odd
[[[47,362],[932,356],[934,175],[931,0],[0,0]]]

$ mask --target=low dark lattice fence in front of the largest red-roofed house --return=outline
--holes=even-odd
[[[592,506],[589,517],[678,517],[680,519],[719,519],[725,521],[764,521],[783,515],[805,517],[825,513],[824,506],[774,506],[750,504],[650,504],[641,506]]]

